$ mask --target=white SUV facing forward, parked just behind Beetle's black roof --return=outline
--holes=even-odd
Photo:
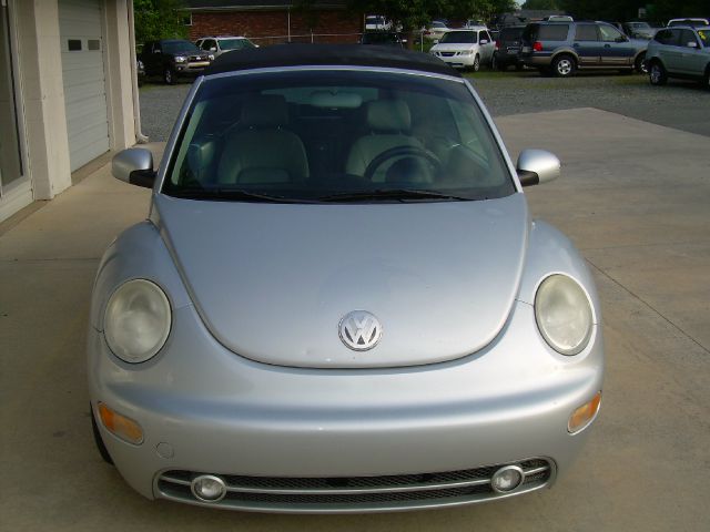
[[[452,30],[429,50],[442,61],[478,72],[481,63],[490,64],[495,43],[486,28]]]

